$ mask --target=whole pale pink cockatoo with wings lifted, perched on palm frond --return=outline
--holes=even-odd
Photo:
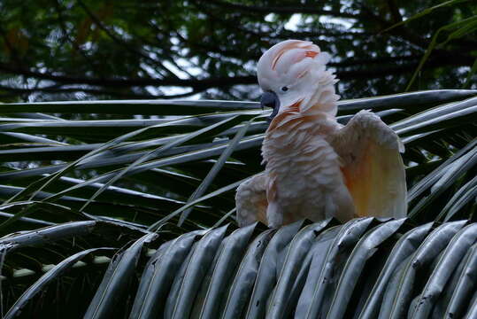
[[[346,126],[336,121],[329,58],[311,42],[288,40],[258,60],[261,105],[273,113],[262,145],[265,171],[237,188],[240,226],[406,215],[404,145],[369,111]]]

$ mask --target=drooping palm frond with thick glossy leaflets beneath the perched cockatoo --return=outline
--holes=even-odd
[[[96,288],[88,294],[88,304],[74,312],[78,316],[394,318],[473,314],[470,292],[475,290],[475,282],[467,279],[475,275],[477,223],[431,222],[413,228],[406,219],[368,217],[343,225],[326,220],[299,221],[279,230],[261,228],[253,224],[233,230],[226,225],[179,237],[173,228],[163,228],[158,234],[136,233],[134,241],[113,245],[122,249],[105,260],[107,269],[92,268],[94,258],[77,262],[89,254],[96,260],[104,256],[100,247],[83,244],[78,253],[66,253],[63,259],[43,253],[39,261],[56,266],[42,266],[46,273],[37,279],[31,275],[35,270],[30,271],[25,292],[16,303],[7,303],[7,317],[17,315],[20,308],[27,314],[32,307],[66,311],[70,306],[65,300],[38,303],[37,292],[63,276],[95,273],[92,269],[103,275],[91,283]],[[69,229],[80,230],[75,224]],[[41,231],[54,234],[58,241],[71,238],[71,230],[52,226]],[[32,234],[35,232],[7,237],[1,244],[19,243]],[[17,253],[27,248],[27,243],[23,244],[23,248],[16,247]],[[49,240],[35,240],[37,248],[49,245]],[[12,254],[7,254],[4,268],[22,261],[21,255],[12,258]],[[32,268],[25,261],[23,264],[26,270]],[[74,273],[74,265],[82,271]],[[140,275],[139,282],[135,274]],[[9,285],[18,286],[18,276],[4,276]],[[56,304],[60,301],[61,305]]]

